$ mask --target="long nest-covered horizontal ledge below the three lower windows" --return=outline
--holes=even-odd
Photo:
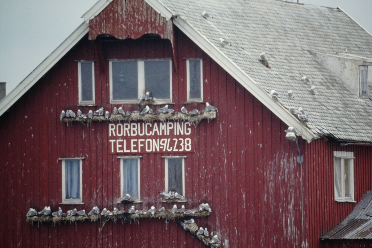
[[[121,213],[120,213],[121,212]],[[26,221],[30,224],[40,224],[40,223],[53,223],[61,224],[61,223],[75,223],[75,222],[107,222],[107,221],[121,221],[123,224],[127,222],[131,222],[132,220],[138,219],[164,219],[164,220],[176,220],[180,218],[202,218],[209,216],[209,211],[201,211],[194,214],[183,214],[183,213],[171,213],[169,209],[165,210],[164,212],[156,212],[155,215],[136,215],[136,214],[129,214],[128,212],[119,211],[118,215],[108,215],[108,216],[101,216],[101,215],[90,215],[90,216],[55,216],[52,217],[50,215],[46,216],[28,216]]]

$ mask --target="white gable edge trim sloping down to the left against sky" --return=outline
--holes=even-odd
[[[3,115],[23,94],[45,75],[70,49],[89,31],[86,22],[75,29],[47,58],[22,80],[3,100],[0,101],[0,116]]]

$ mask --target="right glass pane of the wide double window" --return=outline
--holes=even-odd
[[[145,61],[145,92],[157,99],[170,99],[169,60]]]

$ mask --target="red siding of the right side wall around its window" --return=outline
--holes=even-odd
[[[341,146],[340,142],[323,139],[308,144],[305,161],[309,247],[329,247],[322,246],[319,237],[346,218],[356,205],[334,200],[333,151],[354,152],[355,201],[358,202],[366,190],[371,190],[371,146]]]

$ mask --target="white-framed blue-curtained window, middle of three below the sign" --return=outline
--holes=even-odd
[[[120,191],[121,198],[126,194],[131,200],[140,200],[140,158],[141,157],[118,157],[120,158]]]

